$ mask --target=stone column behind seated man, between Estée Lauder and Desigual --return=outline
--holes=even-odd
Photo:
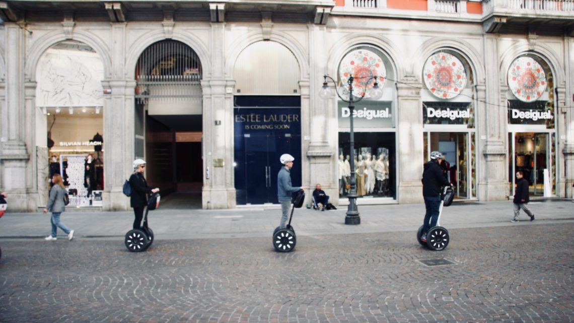
[[[300,82],[301,86],[301,136],[302,149],[307,155],[308,166],[303,166],[304,187],[315,189],[320,183],[321,189],[329,195],[329,201],[339,203],[339,168],[335,167],[338,146],[339,129],[337,125],[337,100],[323,100],[319,90],[323,86],[323,75],[332,68],[327,67],[325,48],[326,28],[324,25],[308,25],[309,28],[309,76],[308,82]],[[335,75],[331,75],[336,79]],[[305,78],[305,75],[301,75]],[[335,84],[329,81],[333,89]],[[333,125],[333,126],[329,126]],[[301,161],[302,162],[302,161]],[[311,192],[308,192],[311,197]]]

